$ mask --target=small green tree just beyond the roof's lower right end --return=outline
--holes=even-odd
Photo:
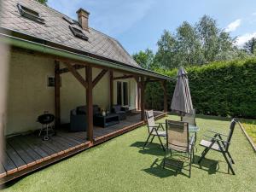
[[[145,51],[139,51],[138,53],[132,55],[133,59],[137,61],[141,67],[145,69],[153,69],[154,68],[154,53],[150,49],[146,49]]]

